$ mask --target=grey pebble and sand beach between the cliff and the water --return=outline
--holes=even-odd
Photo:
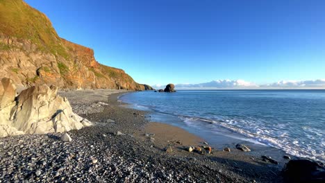
[[[1,138],[0,182],[283,182],[282,168],[240,150],[190,153],[190,145],[208,145],[180,128],[149,123],[146,112],[122,107],[123,93],[107,92],[60,92],[94,123],[69,131],[72,141],[60,133]]]

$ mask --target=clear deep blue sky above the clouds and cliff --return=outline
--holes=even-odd
[[[325,1],[26,0],[137,82],[325,78]]]

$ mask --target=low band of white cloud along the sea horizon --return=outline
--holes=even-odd
[[[153,85],[163,89],[165,85]],[[318,80],[281,80],[271,84],[256,85],[245,80],[213,80],[199,84],[178,84],[176,89],[325,89],[325,79]]]

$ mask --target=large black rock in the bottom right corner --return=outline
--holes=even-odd
[[[310,159],[292,159],[283,168],[287,182],[325,182],[325,167]]]

